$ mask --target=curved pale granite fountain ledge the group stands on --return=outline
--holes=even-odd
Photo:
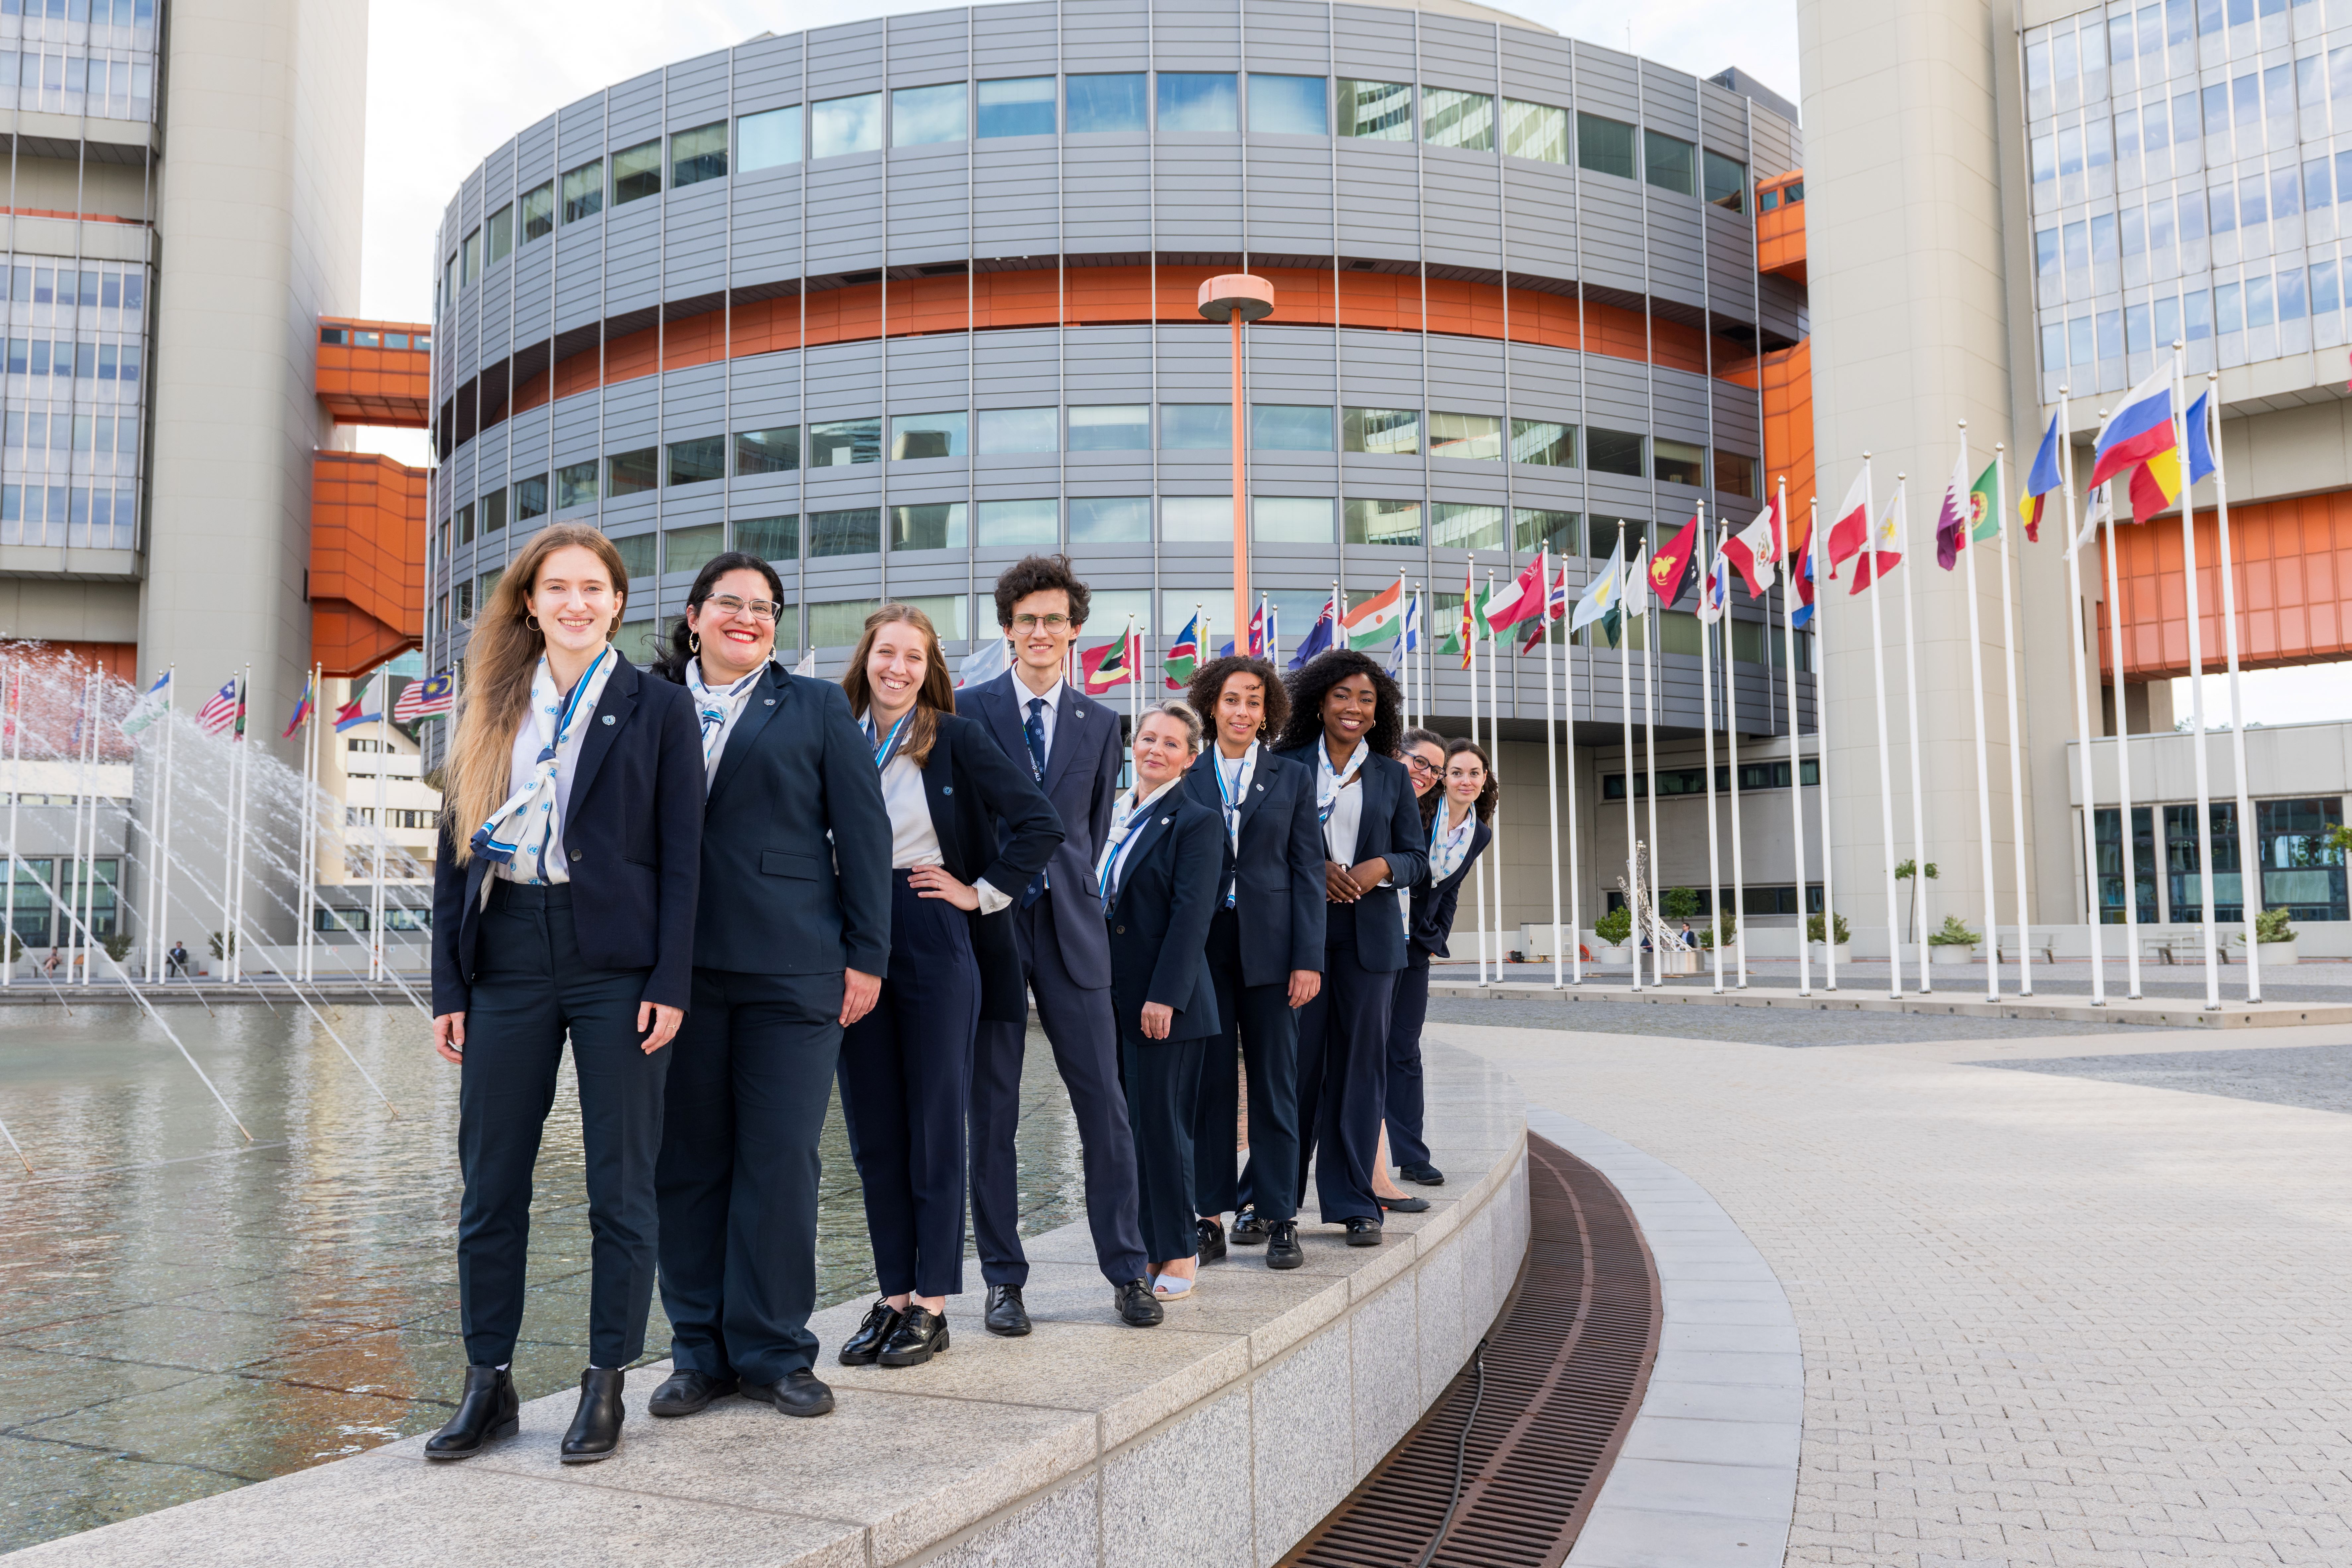
[[[1117,1321],[1084,1222],[1030,1241],[1037,1331],[981,1328],[981,1288],[948,1302],[953,1347],[924,1368],[821,1363],[840,1408],[800,1422],[727,1399],[656,1422],[666,1373],[630,1373],[623,1450],[562,1467],[574,1396],[522,1408],[522,1434],[461,1465],[407,1439],[235,1493],[26,1549],[21,1561],[652,1559],[771,1568],[1169,1561],[1265,1568],[1421,1420],[1494,1321],[1526,1253],[1524,1095],[1449,1046],[1428,1053],[1428,1131],[1446,1187],[1348,1248],[1312,1213],[1308,1262],[1275,1274],[1235,1248],[1160,1328]],[[863,1314],[811,1321],[826,1352]]]

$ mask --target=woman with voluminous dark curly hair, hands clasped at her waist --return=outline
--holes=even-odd
[[[1399,889],[1428,875],[1411,776],[1392,757],[1397,682],[1355,649],[1317,654],[1289,679],[1277,755],[1315,769],[1324,837],[1324,985],[1298,1009],[1298,1126],[1315,1152],[1315,1194],[1348,1246],[1381,1244],[1371,1173],[1381,1147],[1388,1023],[1404,969]],[[1312,1128],[1305,1133],[1305,1128]],[[1298,1190],[1305,1192],[1305,1147]]]

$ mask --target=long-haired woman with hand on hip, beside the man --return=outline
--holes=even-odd
[[[842,689],[891,832],[889,973],[840,1065],[882,1295],[842,1366],[922,1366],[948,1349],[941,1312],[964,1288],[971,1039],[981,1018],[1028,1018],[1004,910],[1061,844],[1061,818],[1025,766],[955,715],[938,635],[913,604],[866,616]]]

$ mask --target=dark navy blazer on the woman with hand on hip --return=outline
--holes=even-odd
[[[866,766],[873,766],[870,748]],[[1028,764],[997,750],[974,719],[938,715],[938,736],[922,764],[922,795],[931,806],[938,858],[957,882],[985,879],[1018,900],[1021,889],[1061,844],[1061,818],[1030,778]],[[1002,842],[997,823],[1011,827]],[[1011,905],[995,914],[971,912],[971,957],[981,966],[981,1018],[1028,1023]]]

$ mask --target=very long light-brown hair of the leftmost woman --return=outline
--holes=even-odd
[[[473,830],[489,820],[513,790],[515,731],[532,705],[532,675],[546,654],[546,632],[529,623],[532,588],[539,569],[557,550],[579,545],[612,574],[614,611],[604,628],[609,639],[628,609],[628,564],[602,529],[586,522],[555,522],[532,536],[522,552],[492,585],[473,618],[473,642],[466,646],[466,703],[456,712],[456,736],[449,741],[447,811],[456,813],[449,842],[456,863],[473,858]]]

